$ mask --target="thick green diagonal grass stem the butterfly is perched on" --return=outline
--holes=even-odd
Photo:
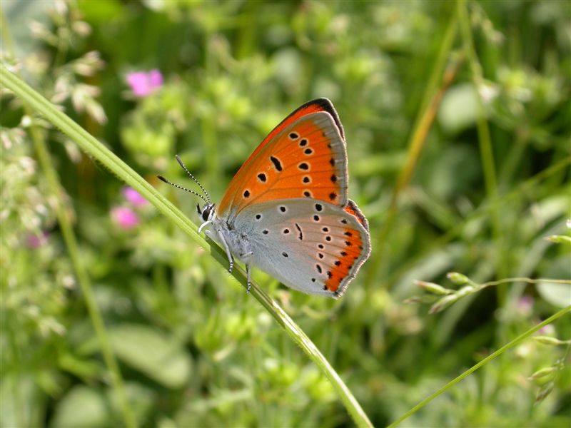
[[[172,205],[161,193],[158,193],[155,188],[147,183],[141,175],[138,175],[114,153],[109,151],[108,148],[99,143],[96,138],[66,116],[65,113],[58,111],[46,98],[34,91],[34,89],[20,78],[10,73],[3,64],[0,65],[0,84],[1,86],[9,88],[24,102],[29,103],[31,108],[34,108],[34,111],[41,113],[41,115],[53,123],[54,126],[61,129],[66,136],[69,136],[72,141],[75,141],[89,156],[101,162],[120,180],[123,180],[123,182],[137,190],[138,193],[141,193],[141,195],[153,204],[158,211],[163,213],[168,220],[178,225],[192,240],[210,253],[218,263],[221,263],[225,268],[228,267],[228,260],[223,250],[218,245],[213,245],[211,240],[207,241],[201,235],[198,235],[196,225],[183,215],[181,210],[178,210],[178,208]],[[231,275],[236,278],[243,287],[246,287],[246,275],[240,267],[235,267]],[[255,282],[252,283],[251,295],[268,310],[274,320],[283,327],[290,338],[302,348],[308,357],[310,357],[310,360],[312,360],[330,380],[333,388],[348,410],[348,413],[353,417],[355,424],[358,427],[372,427],[373,425],[370,423],[363,408],[360,407],[360,404],[350,392],[350,389],[348,389],[337,372],[333,370],[333,367],[331,367],[309,337],[305,335],[305,332],[303,332],[283,309],[273,301],[266,292],[263,292]]]

